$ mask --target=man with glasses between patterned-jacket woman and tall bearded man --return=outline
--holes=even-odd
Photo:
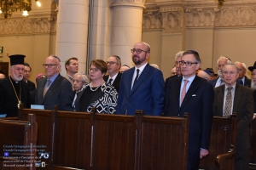
[[[119,69],[121,67],[121,59],[117,55],[112,55],[108,57],[107,60],[108,65],[108,76],[104,76],[103,79],[105,82],[109,83],[116,89],[119,93],[119,86],[122,74],[119,73]]]

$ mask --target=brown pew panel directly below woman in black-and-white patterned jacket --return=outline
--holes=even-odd
[[[132,169],[134,116],[95,115],[92,169]]]

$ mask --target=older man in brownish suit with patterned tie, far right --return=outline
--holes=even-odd
[[[253,120],[253,90],[238,83],[239,69],[236,65],[224,65],[224,85],[215,88],[213,105],[214,116],[230,116],[238,114],[236,170],[249,169],[249,125]]]

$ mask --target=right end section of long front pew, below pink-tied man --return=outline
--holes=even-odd
[[[137,169],[187,169],[189,116],[143,116]]]

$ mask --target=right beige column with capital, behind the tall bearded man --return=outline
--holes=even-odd
[[[142,41],[143,8],[145,0],[113,0],[111,54],[119,55],[123,65],[133,65],[131,48]]]

